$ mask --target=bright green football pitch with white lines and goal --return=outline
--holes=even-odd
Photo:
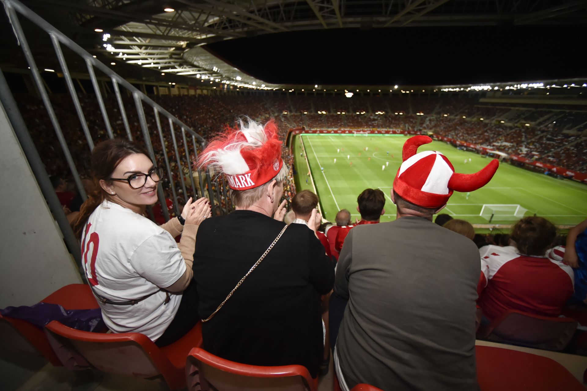
[[[350,211],[353,221],[360,218],[356,210],[357,196],[365,188],[380,188],[386,195],[381,221],[395,220],[396,207],[390,191],[402,163],[402,147],[406,140],[407,136],[403,135],[299,134],[292,141],[296,188],[316,191],[322,214],[329,221],[334,221],[336,213],[343,208]],[[419,152],[424,150],[443,153],[458,173],[475,173],[490,161],[442,141],[433,141],[418,149]],[[382,166],[386,167],[382,170]],[[486,206],[481,215],[483,205],[494,206]],[[455,191],[441,213],[471,224],[488,224],[493,211],[491,224],[511,224],[520,215],[537,214],[556,225],[576,225],[587,217],[587,186],[503,163],[486,186],[468,195]]]

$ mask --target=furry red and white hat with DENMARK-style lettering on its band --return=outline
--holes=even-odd
[[[265,126],[249,117],[208,143],[197,161],[200,168],[225,174],[233,190],[249,190],[271,181],[281,170],[281,141],[275,121]]]

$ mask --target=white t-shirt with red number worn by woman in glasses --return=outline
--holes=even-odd
[[[176,241],[148,218],[104,201],[90,215],[82,232],[82,264],[96,294],[112,301],[139,299],[135,305],[100,304],[106,326],[117,333],[140,332],[156,341],[180,305],[181,293],[160,288],[185,272]]]

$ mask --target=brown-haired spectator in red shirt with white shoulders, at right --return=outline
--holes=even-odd
[[[543,217],[525,217],[512,229],[514,249],[488,245],[481,253],[483,292],[478,305],[492,321],[509,309],[542,316],[559,316],[573,294],[573,271],[562,261],[548,259],[556,228]]]

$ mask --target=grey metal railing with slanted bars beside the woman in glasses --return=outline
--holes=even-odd
[[[129,125],[129,119],[127,116],[126,108],[123,103],[123,97],[120,92],[121,87],[123,89],[123,92],[126,91],[129,95],[132,96],[134,106],[136,107],[136,115],[139,119],[140,129],[144,141],[144,147],[146,147],[146,150],[148,151],[151,160],[153,160],[153,162],[157,162],[157,156],[153,149],[153,144],[151,144],[151,132],[155,131],[149,129],[149,124],[147,122],[143,105],[146,105],[153,109],[153,116],[156,124],[155,127],[157,128],[156,132],[158,134],[158,141],[161,143],[161,150],[158,152],[162,155],[165,163],[166,173],[170,182],[169,187],[171,190],[171,197],[173,198],[174,211],[176,214],[179,214],[180,211],[178,210],[178,195],[176,192],[176,183],[174,181],[173,175],[175,171],[177,171],[178,177],[180,178],[180,185],[178,185],[178,187],[180,186],[180,190],[184,195],[184,201],[187,201],[188,198],[189,190],[186,186],[186,182],[188,182],[188,186],[191,186],[191,191],[193,192],[194,197],[197,197],[198,193],[200,194],[200,196],[203,195],[205,187],[207,187],[207,197],[211,201],[212,215],[217,214],[217,205],[215,205],[215,201],[217,201],[218,207],[220,207],[220,211],[222,211],[221,188],[225,197],[224,199],[226,206],[228,206],[229,201],[228,198],[226,198],[226,187],[224,180],[215,181],[213,186],[210,173],[202,173],[198,171],[197,182],[199,186],[196,186],[196,181],[194,180],[194,173],[192,171],[190,163],[192,156],[191,152],[193,152],[193,156],[197,158],[198,145],[200,147],[203,147],[205,145],[206,141],[203,139],[203,137],[200,136],[200,134],[195,133],[185,123],[181,122],[171,113],[167,112],[167,110],[163,109],[163,107],[158,105],[156,102],[154,102],[144,93],[142,93],[136,87],[134,87],[129,82],[124,80],[121,76],[117,75],[117,73],[115,73],[112,69],[110,69],[102,62],[94,58],[89,52],[87,52],[85,49],[77,45],[77,43],[73,42],[66,35],[58,31],[55,27],[50,25],[50,23],[46,22],[39,15],[35,14],[35,12],[31,11],[31,9],[23,5],[21,2],[17,0],[1,1],[5,6],[6,14],[8,15],[9,21],[12,24],[14,33],[16,35],[16,39],[18,40],[18,43],[22,48],[22,52],[25,55],[26,62],[28,63],[29,68],[31,69],[32,77],[35,82],[36,88],[38,89],[38,92],[41,95],[41,99],[47,110],[50,123],[55,129],[55,134],[65,156],[65,160],[68,164],[69,170],[72,173],[73,180],[75,181],[77,187],[77,191],[79,192],[83,201],[86,200],[86,191],[83,187],[82,178],[80,178],[80,174],[77,170],[75,161],[72,157],[72,154],[70,153],[68,140],[66,139],[66,136],[63,134],[62,127],[60,126],[58,116],[56,116],[55,110],[53,109],[53,104],[51,102],[50,95],[46,90],[45,83],[43,82],[43,79],[41,77],[41,73],[39,72],[39,69],[36,66],[35,59],[33,58],[31,52],[31,48],[29,47],[25,33],[23,32],[21,22],[19,21],[19,15],[22,15],[26,19],[29,19],[29,21],[31,21],[36,26],[41,28],[43,31],[48,33],[50,41],[53,45],[53,49],[55,49],[55,55],[57,56],[60,68],[63,72],[63,77],[65,79],[67,90],[73,101],[73,106],[75,107],[75,112],[82,127],[83,136],[85,138],[90,153],[95,145],[94,140],[92,138],[92,134],[90,133],[84,112],[82,110],[82,105],[80,104],[79,97],[77,96],[75,87],[73,85],[72,75],[69,72],[65,56],[63,55],[62,45],[72,50],[73,53],[80,56],[86,63],[87,72],[89,73],[90,80],[92,81],[92,86],[96,94],[98,106],[97,109],[99,109],[100,113],[102,114],[102,119],[104,120],[104,127],[107,136],[110,139],[113,139],[114,133],[110,123],[109,115],[107,113],[107,107],[104,104],[104,97],[102,96],[102,92],[100,92],[99,79],[97,79],[95,72],[96,69],[104,73],[106,77],[108,77],[112,82],[114,91],[113,95],[114,97],[116,97],[117,106],[120,110],[120,116],[122,117],[122,122],[124,125],[124,130],[126,131],[126,137],[129,140],[133,140],[133,133],[131,132],[131,127]],[[106,99],[109,98],[110,97],[106,95]],[[16,102],[14,100],[14,96],[12,95],[12,92],[9,89],[8,84],[6,83],[4,74],[1,70],[0,99],[2,101],[2,105],[5,107],[9,120],[11,121],[12,127],[15,130],[16,136],[19,139],[19,143],[21,143],[23,151],[25,151],[26,157],[29,161],[29,164],[31,165],[33,173],[35,174],[36,180],[39,186],[41,187],[42,193],[47,200],[50,211],[56,218],[56,221],[58,222],[59,227],[63,232],[63,237],[66,244],[68,245],[69,251],[75,258],[78,266],[81,266],[82,259],[80,255],[79,244],[77,243],[75,235],[73,235],[72,228],[70,227],[68,220],[65,216],[65,213],[62,210],[62,207],[59,203],[59,199],[56,196],[55,190],[53,189],[53,186],[50,183],[49,176],[46,172],[43,161],[41,160],[41,157],[39,156],[39,153],[36,150],[33,138],[31,137],[31,134],[28,132],[28,129],[26,128],[25,121],[23,120],[22,115],[19,112],[18,106],[16,105]],[[161,126],[160,116],[167,118],[168,129],[164,129],[164,127]],[[176,132],[180,132],[181,137],[176,137]],[[173,144],[173,151],[167,150],[166,141],[170,141],[170,144]],[[185,159],[184,163],[182,163],[180,149],[183,149]],[[90,153],[87,154],[88,159]],[[170,164],[170,154],[174,155],[176,160],[176,164],[173,168]],[[185,179],[185,176],[188,176],[190,180],[187,181]],[[214,187],[215,191],[213,189]],[[200,189],[200,191],[198,191],[198,188]],[[159,203],[161,205],[161,212],[163,213],[163,217],[167,221],[169,220],[169,214],[167,211],[166,197],[164,194],[163,186],[158,186],[157,195]],[[226,211],[226,209],[224,210]],[[151,210],[150,214],[151,217],[153,217],[153,213]]]

